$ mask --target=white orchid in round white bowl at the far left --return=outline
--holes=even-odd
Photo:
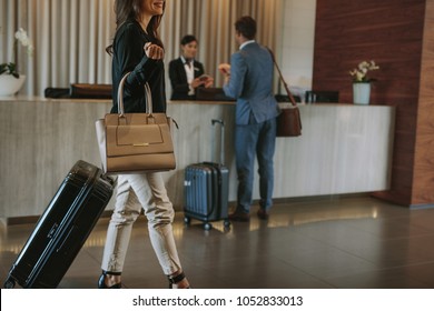
[[[18,71],[18,43],[27,49],[28,56],[33,53],[33,46],[26,30],[20,28],[14,34],[13,41],[13,60],[0,63],[0,97],[13,96],[24,83],[26,76]]]

